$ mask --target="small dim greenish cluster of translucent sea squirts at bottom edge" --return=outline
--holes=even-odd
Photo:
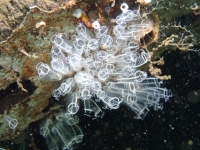
[[[40,128],[40,134],[46,139],[49,150],[74,149],[82,142],[83,133],[77,123],[77,116],[59,114],[57,121],[47,119],[44,126]]]

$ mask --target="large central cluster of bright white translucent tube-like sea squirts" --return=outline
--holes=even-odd
[[[57,100],[65,96],[66,114],[76,114],[79,101],[83,101],[85,112],[93,112],[97,117],[101,112],[97,103],[102,101],[109,109],[126,104],[135,112],[135,118],[143,119],[149,107],[162,109],[160,99],[167,101],[172,96],[156,78],[138,70],[151,57],[140,48],[140,39],[152,30],[152,21],[141,18],[138,11],[129,10],[125,3],[121,10],[112,30],[95,21],[95,36],[83,24],[76,27],[73,41],[64,34],[56,34],[50,66],[37,65],[40,78],[64,78],[52,95]]]

